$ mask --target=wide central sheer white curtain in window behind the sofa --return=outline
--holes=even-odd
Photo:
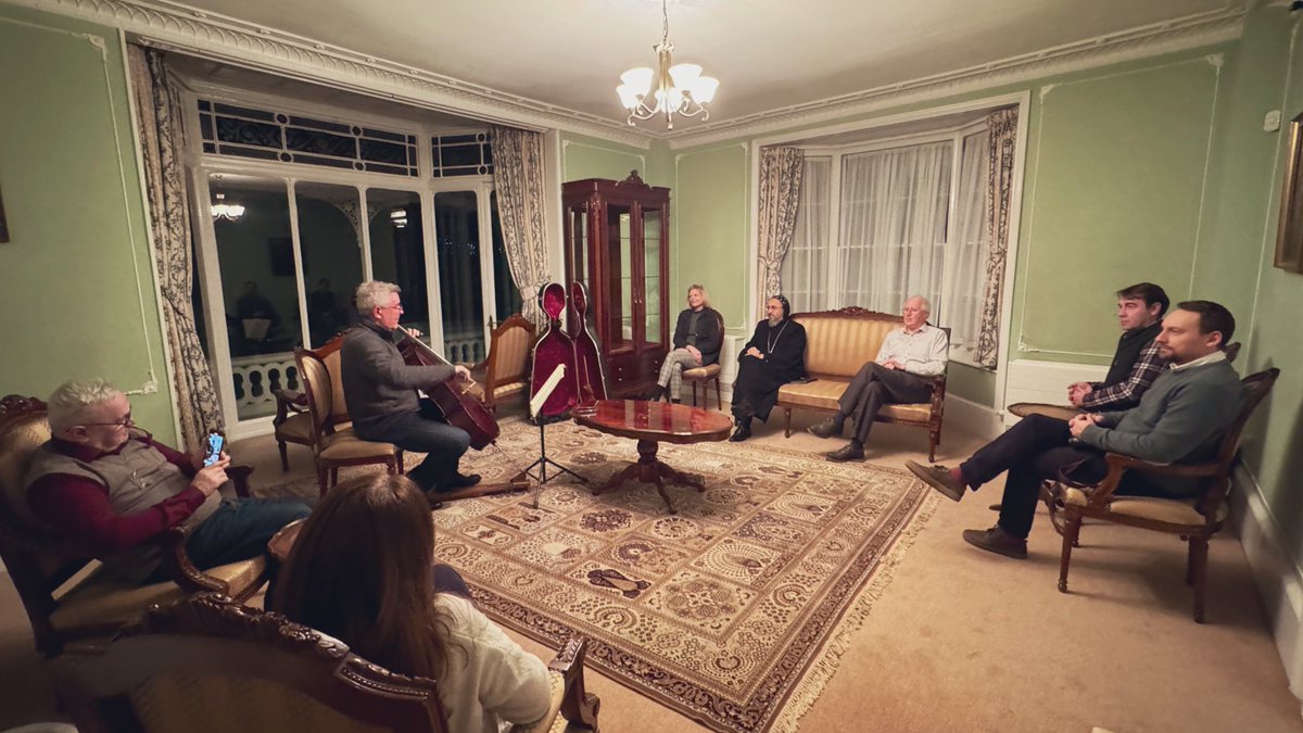
[[[954,158],[947,142],[842,159],[840,305],[899,313],[939,300]]]

